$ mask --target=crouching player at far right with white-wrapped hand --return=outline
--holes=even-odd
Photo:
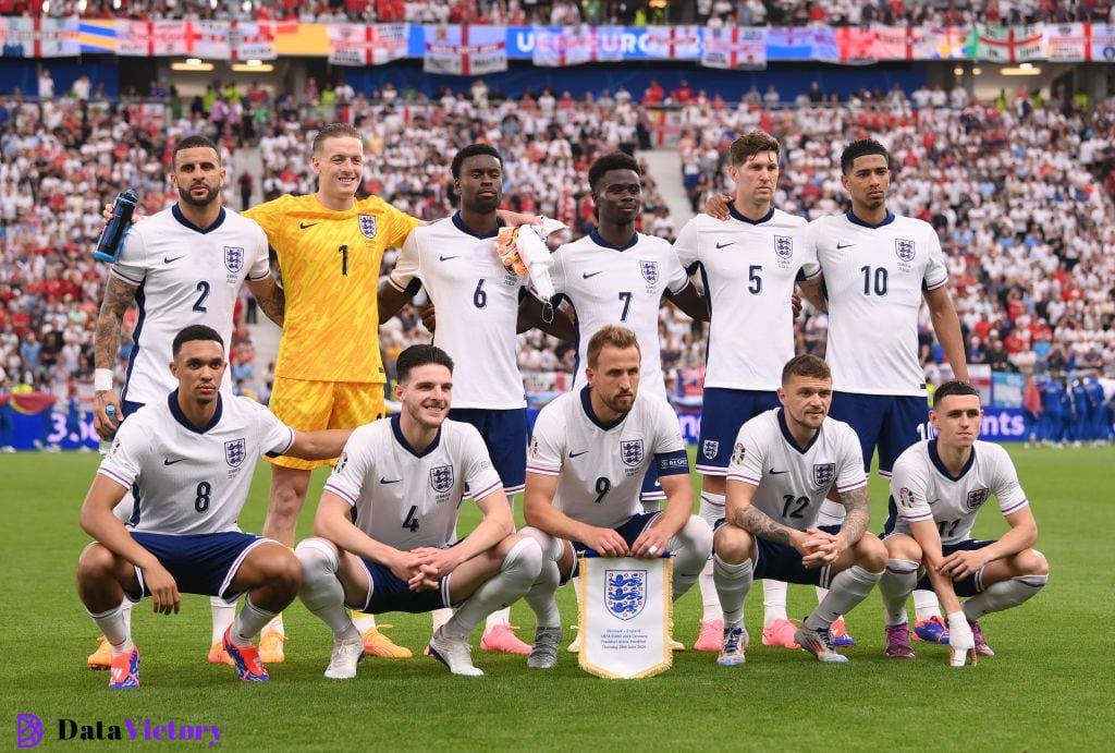
[[[964,654],[995,656],[977,620],[1017,607],[1046,585],[1049,563],[1032,549],[1038,527],[1010,456],[980,442],[979,393],[947,382],[933,395],[937,438],[906,450],[894,464],[886,521],[886,572],[879,582],[886,610],[886,656],[914,658],[905,602],[914,588],[932,587],[948,615],[954,664]],[[995,495],[1010,530],[998,541],[971,538],[976,515]],[[920,576],[920,578],[919,578]],[[959,596],[968,598],[963,607]]]

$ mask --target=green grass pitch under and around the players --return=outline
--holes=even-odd
[[[555,670],[537,673],[521,657],[476,649],[476,664],[487,676],[453,677],[419,655],[428,617],[385,615],[380,621],[395,625],[389,635],[416,658],[368,659],[355,680],[336,683],[321,675],[329,631],[295,604],[287,614],[288,660],[270,667],[270,684],[256,686],[204,662],[209,602],[187,596],[182,614],[173,617],[152,614],[149,602],[136,608],[143,687],[120,694],[109,693],[104,673],[85,666],[96,630],[74,589],[75,563],[87,541],[77,525],[78,508],[97,456],[0,456],[6,736],[13,736],[16,714],[28,712],[45,723],[42,746],[66,750],[81,743],[57,740],[60,717],[83,724],[123,724],[125,717],[140,724],[148,717],[215,724],[220,746],[235,750],[1111,750],[1115,495],[1107,473],[1115,453],[1011,448],[1011,454],[1051,577],[1032,601],[985,620],[998,656],[975,669],[949,668],[944,646],[917,644],[912,663],[884,659],[876,595],[849,619],[857,640],[847,651],[849,665],[821,665],[802,651],[766,648],[758,645],[757,587],[747,612],[754,645],[747,665],[735,669],[717,667],[714,655],[688,650],[677,654],[663,675],[617,682],[582,673],[570,654]],[[313,477],[300,534],[310,530],[323,479],[320,471]],[[261,464],[242,517],[244,530],[260,529],[268,483]],[[878,530],[885,502],[878,479],[872,500]],[[473,520],[475,509],[462,530]],[[995,537],[1004,528],[992,504],[977,534]],[[560,599],[570,625],[575,621],[571,590],[562,589]],[[807,614],[813,604],[812,588],[791,589],[792,616]],[[512,614],[521,635],[532,635],[525,605],[515,605]],[[696,637],[699,614],[694,588],[675,610],[675,634],[687,645]]]

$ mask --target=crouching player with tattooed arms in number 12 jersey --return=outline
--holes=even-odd
[[[778,399],[739,428],[728,465],[727,519],[714,540],[712,575],[724,607],[717,663],[744,664],[744,600],[755,579],[828,589],[797,629],[796,643],[822,662],[847,662],[828,628],[867,598],[886,549],[867,530],[867,479],[852,427],[828,417],[832,374],[815,356],[796,356],[782,373]],[[816,528],[835,484],[847,510],[841,527]]]

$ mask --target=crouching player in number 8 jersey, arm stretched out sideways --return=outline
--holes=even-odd
[[[252,637],[294,599],[301,573],[285,547],[236,527],[255,461],[334,457],[350,432],[294,432],[250,398],[222,397],[224,342],[210,327],[180,331],[172,353],[178,388],[124,422],[81,506],[81,528],[96,541],[81,552],[78,593],[113,648],[108,687],[122,689],[139,686],[125,595],[151,595],[155,611],[169,615],[180,591],[231,602],[246,591],[223,644],[241,679],[265,682]],[[125,529],[113,509],[128,491],[136,506]]]

